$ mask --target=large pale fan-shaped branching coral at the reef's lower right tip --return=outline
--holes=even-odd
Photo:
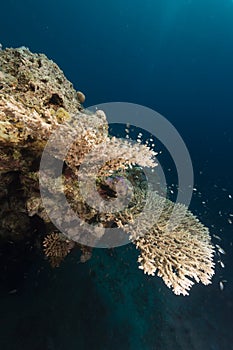
[[[156,194],[154,201],[161,201]],[[177,213],[177,224],[167,219],[171,209]],[[174,207],[167,200],[159,219],[146,234],[141,236],[138,231],[134,243],[140,250],[139,268],[144,273],[154,276],[157,272],[175,294],[188,295],[194,281],[211,283],[214,249],[209,231],[185,206]]]

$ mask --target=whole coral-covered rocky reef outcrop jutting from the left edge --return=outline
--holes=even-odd
[[[47,231],[41,245],[52,266],[58,266],[75,246],[81,249],[81,262],[90,258],[88,244],[77,243],[73,233],[66,237],[56,231],[40,195],[42,153],[62,125],[63,132],[59,139],[53,139],[50,151],[55,150],[55,168],[56,161],[64,161],[63,172],[52,180],[45,178],[47,191],[55,192],[57,203],[64,192],[78,217],[94,225],[97,241],[105,228],[123,229],[140,250],[139,268],[149,275],[157,272],[175,294],[187,295],[194,282],[211,283],[214,249],[208,229],[184,206],[156,192],[148,194],[143,176],[139,180],[140,166],[156,166],[156,153],[145,145],[110,137],[105,114],[85,110],[84,101],[84,94],[76,92],[45,55],[33,54],[25,47],[0,50],[0,239],[30,236],[31,220],[39,217]],[[72,139],[63,157],[62,148]],[[86,199],[91,197],[89,188],[83,190],[77,180],[84,159],[88,166],[83,166],[83,176],[96,181],[97,191],[109,208],[118,193],[129,196],[124,210],[99,212],[84,200],[84,194]],[[103,165],[98,168],[100,160]],[[132,185],[128,192],[123,179]],[[151,216],[161,208],[157,220],[150,224]],[[51,210],[56,215],[53,203]],[[171,212],[177,215],[177,224],[169,222]],[[70,220],[65,208],[57,219],[61,225]]]

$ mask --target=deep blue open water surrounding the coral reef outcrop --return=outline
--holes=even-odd
[[[85,92],[87,107],[137,103],[176,127],[201,193],[190,208],[227,253],[213,284],[189,297],[143,275],[131,246],[95,250],[85,265],[72,253],[52,271],[40,257],[24,262],[1,282],[2,350],[233,349],[232,23],[231,0],[1,4],[3,47],[45,53]]]

